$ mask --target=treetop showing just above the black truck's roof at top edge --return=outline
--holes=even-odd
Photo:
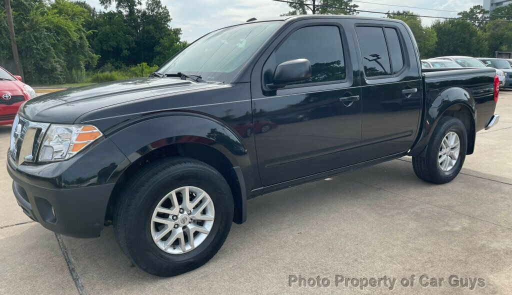
[[[352,4],[352,0],[296,0],[296,3],[288,3],[292,9],[284,15],[297,14],[348,14],[356,15],[354,9],[359,6]]]

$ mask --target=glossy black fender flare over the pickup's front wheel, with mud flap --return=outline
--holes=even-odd
[[[124,122],[105,133],[126,156],[124,165],[112,174],[109,182],[117,182],[123,172],[144,155],[161,147],[179,143],[199,143],[209,145],[227,158],[233,168],[240,196],[236,198],[234,221],[242,223],[246,219],[246,183],[252,177],[248,150],[236,132],[223,122],[196,113],[166,112],[139,117]]]

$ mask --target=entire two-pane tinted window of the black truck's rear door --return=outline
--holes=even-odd
[[[404,66],[398,32],[393,28],[356,27],[367,77],[389,76]]]

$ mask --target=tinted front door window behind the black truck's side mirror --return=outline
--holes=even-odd
[[[270,57],[275,65],[292,59],[306,58],[311,62],[311,78],[295,82],[312,83],[344,80],[346,77],[342,39],[338,27],[315,26],[298,29]],[[275,69],[275,68],[274,68]]]

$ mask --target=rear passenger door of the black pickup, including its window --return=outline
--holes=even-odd
[[[407,152],[417,136],[422,105],[419,59],[400,23],[355,24],[361,73],[365,160]]]

